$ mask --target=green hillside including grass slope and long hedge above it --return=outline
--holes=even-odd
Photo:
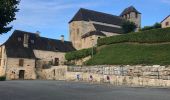
[[[85,64],[170,65],[170,28],[99,39],[97,53]]]

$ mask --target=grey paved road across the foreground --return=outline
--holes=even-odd
[[[0,82],[0,100],[170,100],[170,89],[64,81],[5,81]]]

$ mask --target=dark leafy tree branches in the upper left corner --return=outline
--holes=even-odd
[[[8,25],[16,20],[15,13],[19,10],[17,7],[19,2],[20,0],[0,0],[0,34],[12,29],[12,26]]]

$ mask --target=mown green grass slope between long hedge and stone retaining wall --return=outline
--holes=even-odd
[[[112,44],[100,49],[87,65],[170,64],[170,44]]]

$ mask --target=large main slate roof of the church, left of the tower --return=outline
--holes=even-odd
[[[120,26],[124,19],[119,16],[81,8],[69,23],[73,21],[96,21]]]

